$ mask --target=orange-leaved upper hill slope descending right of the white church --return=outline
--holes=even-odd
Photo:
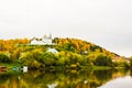
[[[106,55],[109,55],[111,57],[119,56],[116,53],[112,53],[110,51],[107,51],[106,48],[98,46],[96,44],[92,44],[87,41],[78,40],[78,38],[58,38],[55,37],[53,40],[55,44],[57,44],[58,51],[69,51],[77,54],[91,54],[91,53],[103,53]]]

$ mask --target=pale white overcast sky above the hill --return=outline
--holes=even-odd
[[[0,0],[0,38],[52,33],[132,55],[132,0]]]

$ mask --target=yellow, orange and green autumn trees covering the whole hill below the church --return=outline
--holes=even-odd
[[[55,37],[55,45],[30,45],[31,40],[0,40],[0,63],[19,63],[30,68],[130,67],[130,63],[92,43]],[[58,53],[47,52],[55,48]]]

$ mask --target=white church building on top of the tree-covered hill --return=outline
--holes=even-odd
[[[52,45],[52,34],[44,35],[42,38],[32,38],[31,40],[31,45]]]

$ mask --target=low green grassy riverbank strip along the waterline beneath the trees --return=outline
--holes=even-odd
[[[21,64],[2,64],[0,63],[0,66],[6,66],[8,70],[15,70],[15,69],[21,69],[23,65]],[[110,67],[110,66],[80,66],[79,68],[66,68],[63,66],[51,66],[51,67],[45,67],[45,68],[30,68],[29,69],[38,69],[38,70],[106,70],[106,69],[125,69],[123,67]]]

